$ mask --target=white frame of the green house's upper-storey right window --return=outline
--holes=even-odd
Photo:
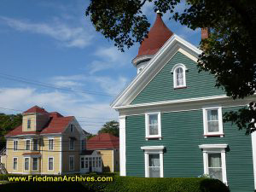
[[[207,111],[213,110],[213,109],[218,110],[218,131],[208,132]],[[224,137],[222,108],[218,106],[218,107],[211,107],[211,108],[202,108],[202,110],[203,110],[204,137],[205,138],[212,137],[212,136]]]

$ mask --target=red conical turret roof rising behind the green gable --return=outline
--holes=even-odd
[[[154,26],[148,32],[148,38],[144,38],[137,57],[142,55],[154,55],[171,38],[173,32],[168,29],[161,18],[161,14],[156,15]]]

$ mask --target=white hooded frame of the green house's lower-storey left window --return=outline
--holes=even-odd
[[[145,177],[149,177],[148,154],[160,154],[160,177],[164,177],[164,150],[165,146],[143,146],[144,162],[145,162]]]

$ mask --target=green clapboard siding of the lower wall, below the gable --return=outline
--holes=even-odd
[[[203,154],[198,145],[227,143],[226,167],[231,192],[253,192],[252,143],[245,131],[238,131],[235,125],[225,123],[223,138],[204,138],[201,110],[161,113],[161,124],[162,140],[146,141],[144,115],[126,118],[127,176],[144,177],[142,146],[166,146],[164,177],[198,177],[204,172]]]

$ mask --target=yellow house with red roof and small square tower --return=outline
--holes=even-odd
[[[22,113],[22,125],[5,136],[1,164],[9,173],[68,174],[80,172],[87,133],[73,116],[48,113],[34,106]]]

